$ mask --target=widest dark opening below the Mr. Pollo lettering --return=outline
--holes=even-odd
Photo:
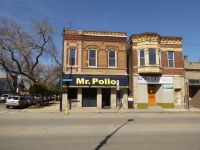
[[[97,107],[97,89],[82,89],[82,107]]]

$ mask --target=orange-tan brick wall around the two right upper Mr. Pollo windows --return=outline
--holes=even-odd
[[[127,74],[126,42],[83,41],[82,72]],[[97,50],[97,67],[88,67],[88,49]],[[116,51],[116,68],[108,67],[108,50]]]

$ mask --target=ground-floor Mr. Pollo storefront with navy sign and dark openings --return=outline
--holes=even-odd
[[[120,96],[117,98],[117,82]],[[73,75],[63,77],[63,104],[71,107],[116,108],[118,101],[125,107],[128,99],[128,76]],[[117,101],[118,100],[118,101]]]

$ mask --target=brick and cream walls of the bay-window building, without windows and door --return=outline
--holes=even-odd
[[[184,65],[182,59],[182,38],[181,37],[169,37],[160,36],[157,33],[142,33],[133,34],[127,42],[127,48],[132,49],[132,66],[133,66],[133,99],[135,107],[137,104],[146,101],[142,99],[143,95],[138,95],[139,90],[142,90],[144,85],[137,84],[138,76],[169,76],[173,78],[173,92],[164,93],[162,87],[157,89],[156,101],[157,103],[170,103],[169,107],[183,107],[185,96],[185,84],[184,84]],[[156,65],[150,66],[148,49],[153,48],[156,50]],[[140,66],[140,53],[139,50],[145,51],[145,66]],[[174,52],[174,67],[168,67],[168,53]],[[145,68],[145,69],[143,69]],[[143,70],[141,70],[143,69]],[[139,72],[140,71],[140,72]],[[142,73],[141,73],[142,72]],[[138,87],[139,86],[139,87]],[[141,86],[141,87],[140,87]],[[162,86],[162,85],[161,85]],[[143,87],[144,88],[144,87]],[[180,89],[180,90],[179,90]],[[181,96],[179,101],[181,103],[175,103],[176,92],[180,91]],[[170,99],[166,99],[164,95],[169,95]],[[179,104],[179,105],[178,105]],[[160,105],[160,104],[159,104]],[[165,107],[162,104],[163,107]]]

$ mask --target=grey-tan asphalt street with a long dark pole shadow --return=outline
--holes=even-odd
[[[1,150],[199,150],[199,114],[0,110]]]

